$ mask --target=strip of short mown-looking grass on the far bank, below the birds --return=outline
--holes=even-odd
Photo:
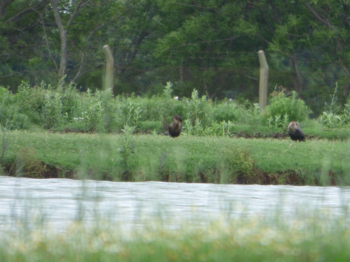
[[[8,131],[3,174],[112,181],[350,184],[348,141]]]

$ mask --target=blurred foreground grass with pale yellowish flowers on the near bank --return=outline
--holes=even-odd
[[[320,221],[323,221],[322,223]],[[328,220],[327,220],[328,221]],[[335,222],[335,221],[334,221]],[[274,224],[276,223],[276,224]],[[261,219],[164,228],[155,221],[122,234],[116,225],[72,224],[63,233],[24,227],[0,237],[1,261],[349,261],[346,221]]]

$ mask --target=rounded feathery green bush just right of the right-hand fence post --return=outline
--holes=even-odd
[[[274,124],[276,127],[283,127],[288,121],[305,121],[309,114],[310,109],[304,101],[296,98],[296,92],[293,91],[290,96],[287,96],[284,89],[271,94],[265,109],[269,125]]]

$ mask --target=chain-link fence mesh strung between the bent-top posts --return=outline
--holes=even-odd
[[[212,64],[230,64],[242,54],[230,54],[231,58],[218,57]],[[200,96],[208,99],[232,99],[239,103],[259,101],[259,74],[260,65],[257,53],[245,53],[249,67],[234,66],[196,66],[205,64],[204,58],[195,61],[189,60],[191,66],[169,65],[140,65],[114,68],[114,94],[130,96],[161,95],[167,82],[173,84],[173,95],[178,97],[191,97],[196,89]],[[291,92],[295,90],[298,96],[311,108],[311,117],[322,114],[325,102],[330,102],[330,94],[338,86],[338,104],[344,105],[349,94],[349,80],[343,73],[338,61],[321,61],[309,58],[298,58],[291,62],[290,57],[281,57],[278,54],[265,53],[268,72],[268,94],[276,87],[283,87]],[[202,55],[203,56],[203,55]],[[225,61],[227,59],[227,61]],[[231,59],[231,60],[230,60]],[[232,64],[232,63],[231,63]],[[299,68],[296,69],[298,65]],[[87,88],[95,90],[103,86],[104,68],[84,74],[77,80],[77,86],[84,91]]]

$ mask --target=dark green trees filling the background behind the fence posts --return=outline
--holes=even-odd
[[[295,90],[317,117],[337,86],[350,86],[350,2],[300,0],[2,0],[0,85],[16,92],[73,82],[103,86],[108,44],[114,94],[258,100],[259,60],[269,91]],[[270,92],[269,92],[270,93]],[[334,112],[335,114],[337,112]]]

